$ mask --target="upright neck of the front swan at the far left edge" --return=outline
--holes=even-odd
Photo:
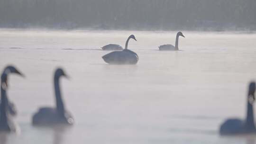
[[[6,97],[6,90],[3,89],[5,82],[1,80],[1,111],[0,111],[0,125],[6,125],[7,124],[7,97]]]

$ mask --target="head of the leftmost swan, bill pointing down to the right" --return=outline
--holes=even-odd
[[[2,86],[2,88],[5,88],[5,89],[8,88],[7,81],[8,81],[8,74],[10,74],[10,73],[17,73],[18,75],[20,75],[22,77],[25,77],[24,74],[19,72],[14,66],[9,65],[4,69],[4,71],[1,75],[1,86]]]

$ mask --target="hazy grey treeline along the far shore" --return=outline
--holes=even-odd
[[[256,0],[0,0],[0,27],[256,30]]]

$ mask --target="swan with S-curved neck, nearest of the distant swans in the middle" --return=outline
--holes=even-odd
[[[138,62],[138,55],[128,50],[128,42],[131,38],[137,41],[134,35],[129,36],[124,50],[106,54],[102,56],[103,60],[109,64],[136,64]]]

